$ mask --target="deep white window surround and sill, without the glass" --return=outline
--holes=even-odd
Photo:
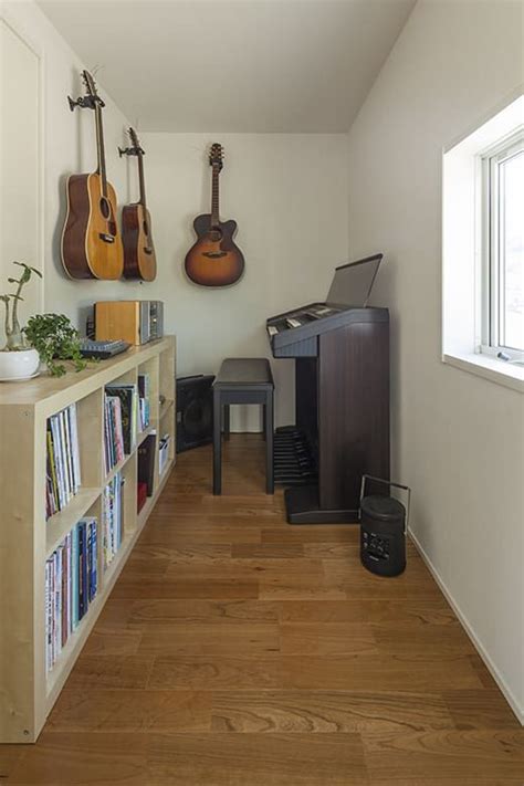
[[[497,357],[483,338],[483,154],[524,122],[524,85],[442,148],[442,363],[524,395],[524,365]],[[482,352],[482,346],[486,352]]]

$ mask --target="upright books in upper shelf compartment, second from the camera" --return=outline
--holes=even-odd
[[[105,389],[105,470],[109,472],[136,446],[138,389],[132,385],[108,385]]]

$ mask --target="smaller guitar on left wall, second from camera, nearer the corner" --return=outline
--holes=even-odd
[[[146,207],[146,185],[144,179],[144,155],[137,133],[127,132],[132,147],[118,148],[120,156],[136,156],[138,160],[138,181],[140,197],[138,202],[126,205],[122,210],[122,240],[124,243],[124,277],[154,281],[157,274],[157,260],[151,237],[151,217]]]

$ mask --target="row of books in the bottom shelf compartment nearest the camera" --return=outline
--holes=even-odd
[[[51,671],[97,589],[96,518],[83,518],[45,562],[45,666]]]

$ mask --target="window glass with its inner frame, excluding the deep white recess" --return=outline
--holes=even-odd
[[[482,352],[524,361],[524,133],[492,146],[482,167]]]

